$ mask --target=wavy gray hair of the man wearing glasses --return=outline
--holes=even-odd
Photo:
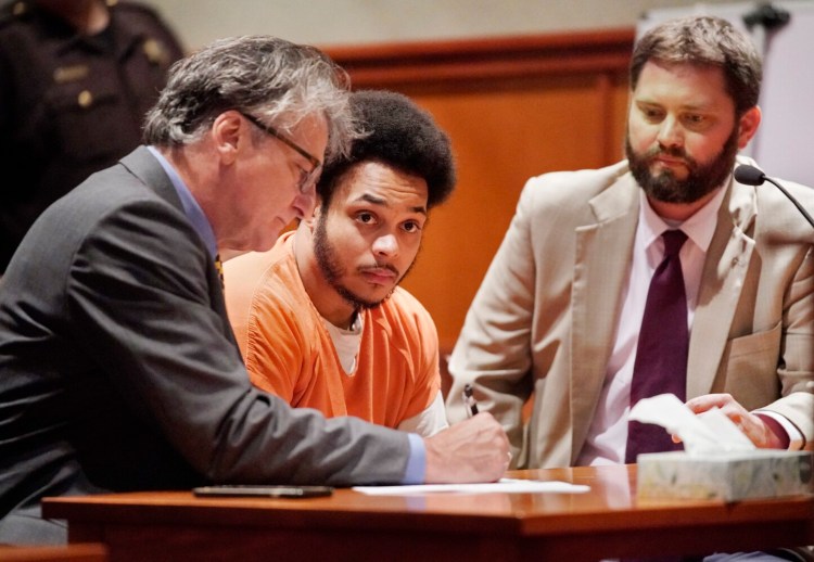
[[[347,74],[315,47],[269,36],[220,39],[173,65],[143,138],[157,146],[189,144],[229,110],[287,132],[319,114],[328,123],[330,159],[347,154],[359,135],[348,90]]]

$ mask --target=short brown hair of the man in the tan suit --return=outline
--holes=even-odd
[[[633,50],[631,89],[636,89],[641,68],[650,59],[718,66],[736,113],[742,115],[758,105],[763,79],[761,56],[749,37],[726,20],[690,16],[648,30]]]

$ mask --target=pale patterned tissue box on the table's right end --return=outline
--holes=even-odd
[[[685,451],[649,452],[637,458],[639,498],[773,498],[811,494],[809,451],[755,449],[703,457]]]

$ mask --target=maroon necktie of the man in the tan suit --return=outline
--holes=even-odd
[[[681,230],[667,230],[664,259],[656,268],[647,292],[636,359],[633,363],[631,407],[641,398],[675,394],[684,401],[687,386],[687,296],[678,252],[687,240]],[[625,462],[636,462],[640,452],[682,449],[664,427],[652,423],[627,423]]]

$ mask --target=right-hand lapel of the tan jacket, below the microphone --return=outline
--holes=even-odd
[[[707,251],[687,361],[687,398],[709,394],[746,282],[754,240],[754,190],[733,181]],[[722,329],[722,327],[725,327]]]

